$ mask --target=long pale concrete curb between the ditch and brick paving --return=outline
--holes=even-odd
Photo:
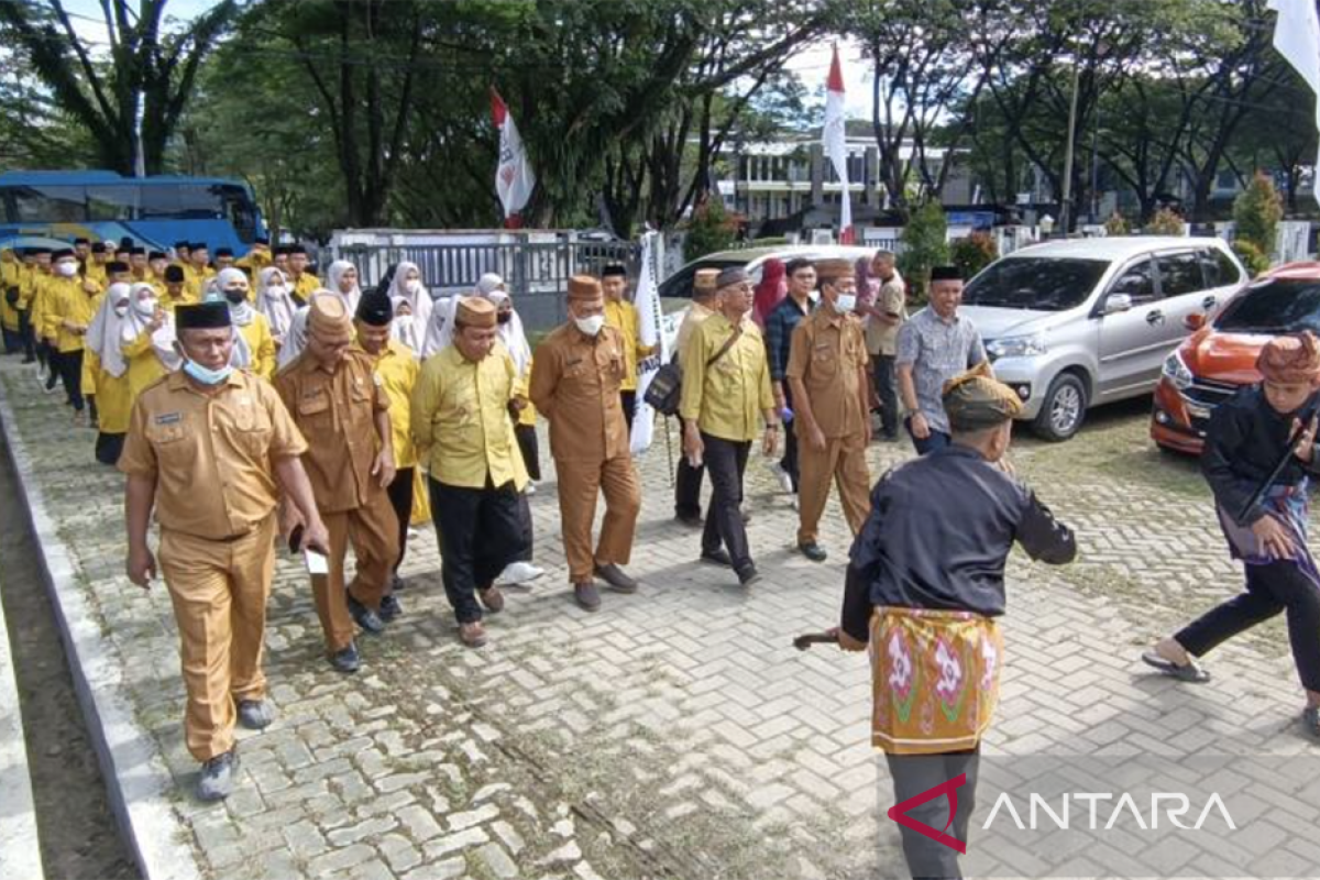
[[[9,458],[41,550],[46,588],[69,656],[74,690],[96,747],[124,846],[144,880],[199,879],[203,873],[191,847],[180,842],[178,833],[186,826],[169,801],[174,781],[156,741],[137,723],[120,660],[102,635],[78,583],[78,563],[59,538],[41,488],[32,479],[32,456],[18,437],[4,383],[0,383],[0,426],[9,441]],[[5,872],[5,876],[28,875]]]

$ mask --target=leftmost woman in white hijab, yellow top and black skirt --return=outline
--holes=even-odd
[[[129,286],[112,284],[87,327],[83,359],[83,393],[96,398],[96,460],[114,464],[124,449],[132,401],[128,393],[128,363],[119,350],[119,336],[128,314]]]

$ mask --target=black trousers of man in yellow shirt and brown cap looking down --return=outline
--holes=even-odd
[[[510,562],[524,553],[521,497],[513,483],[486,488],[447,486],[428,478],[432,520],[440,537],[441,581],[458,623],[482,619],[477,591],[486,590]]]

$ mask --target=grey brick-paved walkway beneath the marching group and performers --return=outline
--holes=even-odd
[[[306,578],[281,559],[267,664],[280,718],[242,736],[238,793],[202,806],[189,794],[197,767],[168,598],[123,575],[121,479],[30,372],[5,365],[0,381],[17,422],[5,430],[33,460],[28,476],[77,559],[107,657],[173,774],[177,835],[202,876],[902,875],[886,770],[867,744],[865,657],[789,644],[837,617],[846,526],[832,501],[829,561],[793,553],[796,513],[763,459],[748,468],[747,503],[762,584],[744,591],[694,562],[697,533],[671,519],[661,438],[640,462],[630,571],[643,588],[606,591],[594,615],[572,602],[548,480],[532,499],[548,574],[511,592],[480,652],[458,644],[429,532],[409,546],[405,616],[359,641],[355,677],[325,662]],[[1213,687],[1177,687],[1135,662],[1239,583],[1195,466],[1152,451],[1144,426],[1130,405],[1067,445],[1019,433],[1018,470],[1077,528],[1081,559],[1011,562],[987,753],[1313,753],[1280,625],[1217,652]],[[873,471],[908,455],[876,445]],[[1309,846],[1298,840],[1284,850]],[[1313,855],[1294,852],[1303,865]]]

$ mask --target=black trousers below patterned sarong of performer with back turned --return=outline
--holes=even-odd
[[[957,776],[966,773],[968,781],[957,789],[958,809],[953,814],[953,825],[949,823],[949,798],[937,797],[927,801],[921,806],[906,810],[907,815],[935,830],[944,830],[949,836],[966,843],[968,827],[972,823],[972,810],[977,805],[977,770],[981,765],[981,749],[966,752],[945,752],[942,755],[888,755],[884,756],[890,765],[890,776],[894,777],[894,802],[902,803],[908,798],[923,794],[941,782],[948,782]],[[920,834],[906,826],[899,826],[903,838],[903,856],[907,859],[908,871],[916,880],[924,877],[961,877],[958,868],[958,854],[944,846],[939,840]]]

